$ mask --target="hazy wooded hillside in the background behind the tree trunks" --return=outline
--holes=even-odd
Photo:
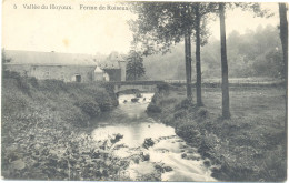
[[[229,77],[283,78],[285,67],[282,60],[279,59],[282,57],[282,53],[280,52],[281,43],[278,37],[279,30],[272,26],[259,26],[256,30],[248,30],[243,34],[240,34],[238,31],[232,31],[228,34]],[[147,74],[151,79],[157,80],[183,80],[185,65],[180,59],[183,57],[182,49],[183,44],[177,44],[171,49],[171,53],[165,55],[155,54],[144,58],[143,63],[147,68]],[[219,41],[212,39],[206,44],[202,48],[201,58],[202,78],[219,78],[221,72]],[[269,67],[266,67],[267,64]],[[171,72],[168,72],[168,70]],[[192,68],[192,72],[196,72],[195,68]],[[195,77],[193,80],[196,80]]]

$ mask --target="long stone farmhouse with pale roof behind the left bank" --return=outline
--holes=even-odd
[[[126,81],[126,61],[111,54],[103,63],[93,55],[59,52],[6,50],[11,59],[10,71],[39,80],[56,79],[64,82]]]

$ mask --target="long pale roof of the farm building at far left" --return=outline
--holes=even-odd
[[[97,65],[96,59],[90,54],[37,52],[6,50],[6,57],[11,58],[8,64],[33,65]]]

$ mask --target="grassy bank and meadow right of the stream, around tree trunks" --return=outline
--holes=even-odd
[[[182,87],[161,85],[149,113],[176,128],[179,136],[210,159],[219,181],[285,181],[285,89],[231,88],[231,119],[222,120],[221,90],[203,89],[205,106],[186,100]],[[156,114],[157,113],[157,114]],[[186,156],[186,154],[183,154]],[[213,165],[213,166],[212,166]]]

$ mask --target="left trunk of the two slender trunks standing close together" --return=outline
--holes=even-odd
[[[186,60],[186,80],[187,80],[187,99],[192,101],[191,92],[191,43],[189,31],[185,34],[185,60]]]

